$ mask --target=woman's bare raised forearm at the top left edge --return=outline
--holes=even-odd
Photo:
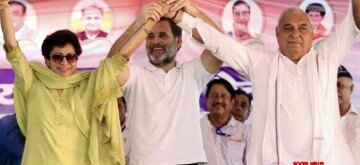
[[[5,48],[11,51],[17,47],[15,32],[11,21],[8,0],[0,0],[1,30],[3,32]]]

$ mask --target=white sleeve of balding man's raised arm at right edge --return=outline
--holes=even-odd
[[[346,54],[360,33],[360,30],[355,25],[352,13],[352,5],[350,3],[345,19],[335,29],[335,32],[316,48],[317,51],[324,52],[328,59],[337,60],[338,65],[343,62]]]

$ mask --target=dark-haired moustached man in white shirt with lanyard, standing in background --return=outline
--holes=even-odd
[[[209,82],[206,105],[210,112],[201,120],[204,149],[211,165],[242,165],[250,142],[250,127],[237,121],[230,111],[235,90],[224,79]]]

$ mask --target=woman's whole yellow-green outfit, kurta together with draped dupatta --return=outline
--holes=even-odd
[[[97,70],[60,77],[20,48],[7,54],[15,73],[14,105],[26,144],[22,164],[124,164],[115,75],[119,55]],[[61,96],[57,89],[63,89]]]

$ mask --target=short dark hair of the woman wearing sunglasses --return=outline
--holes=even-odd
[[[75,33],[70,30],[58,30],[50,35],[47,35],[41,45],[41,52],[44,58],[50,59],[50,52],[55,47],[64,47],[66,44],[70,44],[75,49],[75,54],[80,55],[82,53],[82,49],[80,46],[80,42]]]

